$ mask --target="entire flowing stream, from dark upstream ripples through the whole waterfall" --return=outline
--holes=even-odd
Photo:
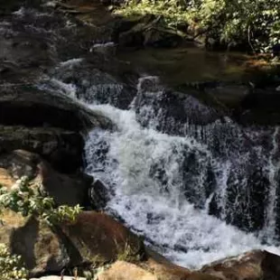
[[[25,23],[25,15],[22,9],[14,17]],[[69,21],[63,24],[61,33],[73,28]],[[0,24],[5,33],[10,25]],[[56,61],[61,54],[55,42],[61,39],[51,28],[46,32],[48,26],[32,33],[53,42]],[[106,184],[108,213],[182,266],[198,268],[253,248],[280,254],[279,127],[213,118],[211,107],[168,93],[160,79],[145,75],[129,107],[121,109],[116,104],[130,94],[126,85],[86,68],[87,61],[74,55],[79,50],[72,52],[71,58],[65,54],[70,60],[60,57],[53,70],[41,73],[34,86],[68,95],[116,125],[86,135],[86,172]]]

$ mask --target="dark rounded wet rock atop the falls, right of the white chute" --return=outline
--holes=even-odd
[[[219,111],[199,99],[173,90],[144,92],[135,98],[136,114],[144,126],[157,119],[157,129],[168,134],[183,134],[184,125],[207,125],[221,117]],[[150,117],[150,118],[149,118]]]

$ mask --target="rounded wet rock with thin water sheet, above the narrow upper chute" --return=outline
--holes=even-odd
[[[126,78],[125,69],[122,70],[122,65],[114,61],[98,65],[97,61],[92,60],[61,63],[53,75],[67,85],[74,85],[76,96],[89,104],[98,102],[126,109],[136,92],[133,82]],[[108,65],[111,65],[110,70],[107,69]]]

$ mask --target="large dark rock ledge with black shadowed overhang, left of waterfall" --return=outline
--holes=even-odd
[[[51,89],[11,87],[0,94],[0,154],[28,150],[73,173],[82,166],[82,134],[97,126],[112,127],[106,117]]]

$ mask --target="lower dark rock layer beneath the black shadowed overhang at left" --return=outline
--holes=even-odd
[[[0,154],[23,149],[41,154],[58,171],[73,173],[82,165],[83,138],[58,127],[0,125]]]

